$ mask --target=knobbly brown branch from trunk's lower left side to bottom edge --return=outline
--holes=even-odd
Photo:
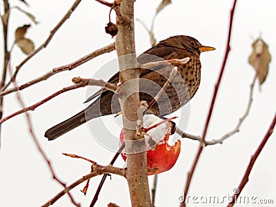
[[[55,202],[60,199],[63,195],[66,195],[70,190],[78,186],[79,184],[82,184],[84,181],[91,179],[92,177],[96,177],[98,175],[102,175],[104,173],[108,174],[115,174],[115,175],[120,175],[123,177],[126,177],[126,169],[125,168],[116,168],[114,166],[108,165],[108,166],[100,166],[98,164],[95,164],[92,166],[93,172],[90,172],[88,175],[84,175],[74,183],[70,184],[61,192],[59,192],[55,197],[52,197],[49,201],[46,202],[46,204],[43,204],[41,207],[46,207],[46,206],[51,206],[52,204],[55,204]]]

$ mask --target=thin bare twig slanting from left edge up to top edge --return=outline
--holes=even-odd
[[[53,28],[50,31],[50,35],[48,36],[48,38],[46,39],[46,41],[44,43],[41,44],[41,46],[39,46],[37,49],[35,49],[34,51],[32,51],[30,53],[30,55],[28,55],[25,59],[23,59],[23,61],[21,63],[19,63],[19,65],[16,67],[14,74],[12,75],[12,77],[10,78],[10,81],[8,81],[8,83],[6,83],[5,86],[1,87],[1,91],[6,90],[6,88],[8,88],[8,86],[10,85],[10,83],[12,82],[12,80],[16,79],[17,74],[20,70],[20,68],[32,57],[34,57],[34,55],[37,55],[37,53],[42,50],[43,48],[46,48],[48,46],[48,43],[50,43],[52,37],[54,37],[55,33],[57,32],[57,30],[59,30],[59,28],[61,28],[61,26],[63,25],[64,22],[66,22],[67,19],[70,18],[72,12],[75,11],[75,9],[77,8],[77,6],[79,6],[79,3],[81,2],[81,0],[76,0],[71,8],[68,10],[68,12],[66,12],[66,14],[64,15],[64,17],[62,17],[62,19],[59,21],[59,23],[57,23],[57,26],[55,26],[55,28]]]

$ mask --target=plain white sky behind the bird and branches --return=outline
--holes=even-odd
[[[27,37],[39,46],[46,40],[50,30],[68,11],[73,2],[73,0],[28,0],[30,8],[26,8],[23,3],[13,0],[11,5],[21,6],[40,21],[37,26],[32,24],[32,28],[27,33]],[[187,34],[198,39],[203,45],[217,48],[213,52],[201,55],[201,86],[190,102],[190,120],[186,130],[195,135],[201,135],[203,130],[214,84],[224,57],[232,3],[232,0],[172,1],[172,4],[158,15],[155,22],[157,41],[177,34]],[[158,4],[159,1],[137,1],[135,17],[149,26]],[[1,6],[3,6],[2,2]],[[241,131],[224,141],[222,145],[205,148],[190,186],[191,196],[213,195],[222,199],[224,196],[232,195],[233,188],[237,187],[244,175],[250,155],[255,152],[275,115],[275,8],[275,1],[237,2],[231,41],[232,50],[215,103],[207,139],[219,138],[232,130],[244,113],[248,101],[249,85],[255,75],[253,68],[248,64],[253,42],[250,37],[257,38],[260,32],[262,32],[264,41],[268,43],[272,56],[270,71],[262,86],[262,91],[259,87],[254,89],[253,106]],[[108,12],[109,9],[106,6],[95,1],[82,1],[70,19],[57,32],[49,46],[21,68],[17,78],[18,83],[25,83],[45,74],[52,68],[71,63],[93,50],[112,43],[114,40],[104,32],[104,26],[108,23]],[[114,15],[112,17],[115,21]],[[14,40],[14,30],[26,23],[30,23],[26,16],[17,10],[12,10],[9,46]],[[137,53],[150,48],[148,34],[137,21],[135,21],[135,34]],[[23,55],[19,48],[14,48],[11,57],[14,67],[26,55]],[[59,73],[48,81],[23,90],[21,95],[26,106],[48,97],[63,87],[70,86],[72,77],[92,77],[101,66],[115,57],[116,52],[102,55],[75,70]],[[1,59],[3,60],[3,52],[1,52]],[[106,77],[103,78],[108,79],[112,73],[106,71]],[[85,97],[86,88],[73,90],[48,101],[34,112],[30,112],[34,133],[39,143],[52,161],[56,175],[67,184],[88,174],[90,164],[79,159],[64,157],[61,155],[62,152],[88,157],[103,165],[108,164],[114,155],[114,152],[103,148],[92,138],[86,124],[55,141],[48,141],[43,137],[46,129],[82,110]],[[19,108],[14,94],[5,97],[4,117]],[[97,119],[94,123],[97,127]],[[0,206],[41,206],[62,190],[62,187],[52,179],[48,166],[34,146],[24,115],[6,121],[1,129]],[[112,130],[117,130],[119,136],[119,128],[112,126]],[[178,198],[184,188],[186,175],[197,152],[197,146],[197,141],[182,140],[181,155],[177,164],[172,170],[159,175],[156,206],[179,204]],[[258,199],[274,199],[274,203],[276,202],[275,146],[276,140],[273,134],[257,159],[242,195],[249,198],[255,196]],[[123,165],[124,161],[119,157],[116,166]],[[101,177],[96,177],[90,181],[86,197],[80,192],[85,184],[72,190],[72,195],[78,202],[81,202],[82,206],[89,206],[100,179]],[[152,177],[149,177],[149,181],[151,186]],[[96,206],[106,206],[109,202],[119,206],[130,206],[128,186],[123,178],[112,175],[111,181],[107,179]],[[72,206],[72,204],[68,196],[64,196],[57,201],[55,206]],[[189,206],[203,205],[190,204]],[[226,202],[205,206],[226,206]],[[244,204],[237,206],[244,206]]]

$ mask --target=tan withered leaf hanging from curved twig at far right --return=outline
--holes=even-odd
[[[261,38],[258,38],[252,44],[252,48],[253,52],[251,53],[248,61],[257,72],[259,85],[262,85],[268,75],[268,65],[271,61],[271,55],[268,51],[268,45]]]

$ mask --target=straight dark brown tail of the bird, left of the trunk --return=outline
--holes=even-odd
[[[76,128],[77,126],[80,126],[85,122],[86,115],[84,110],[82,110],[81,112],[77,113],[77,115],[74,115],[69,119],[57,124],[56,126],[53,126],[52,128],[46,130],[44,136],[47,137],[48,140],[57,139],[57,137],[65,134],[66,132],[69,132],[70,130]]]

